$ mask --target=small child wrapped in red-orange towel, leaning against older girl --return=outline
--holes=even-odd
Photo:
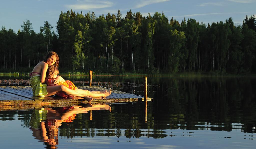
[[[54,66],[48,67],[48,70],[46,72],[47,86],[54,86],[54,80],[57,78],[58,74],[59,74],[59,70],[56,67],[54,67]],[[57,84],[57,85],[64,85],[71,90],[77,89],[77,87],[74,85],[74,83],[71,81],[68,81],[68,80],[65,82],[59,82],[59,84]],[[56,95],[59,97],[64,97],[64,98],[73,98],[74,97],[74,96],[67,95],[65,92],[58,92]]]

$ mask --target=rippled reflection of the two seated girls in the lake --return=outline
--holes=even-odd
[[[33,131],[35,139],[44,142],[47,148],[57,148],[56,145],[59,144],[58,128],[62,123],[71,123],[76,119],[77,114],[88,113],[88,111],[92,113],[93,110],[109,110],[111,112],[111,107],[106,104],[92,105],[88,103],[84,106],[34,109],[30,129]]]

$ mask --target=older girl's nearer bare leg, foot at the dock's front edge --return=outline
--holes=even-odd
[[[48,95],[47,96],[52,96],[55,95],[57,92],[63,91],[66,94],[68,94],[69,96],[76,96],[76,97],[82,97],[84,99],[86,99],[88,102],[92,101],[93,98],[88,97],[87,95],[75,92],[65,86],[62,85],[58,85],[58,86],[47,86],[47,92]]]

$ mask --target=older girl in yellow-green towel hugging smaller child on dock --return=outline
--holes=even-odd
[[[59,67],[59,56],[55,52],[49,52],[46,54],[44,61],[39,62],[32,73],[30,74],[30,84],[33,90],[33,94],[39,97],[52,96],[56,93],[63,91],[69,96],[77,96],[86,99],[87,101],[92,101],[94,97],[107,97],[111,94],[111,90],[106,93],[99,94],[91,93],[85,94],[83,90],[71,90],[65,86],[47,86],[46,85],[46,71],[49,66],[54,66],[58,69]],[[57,85],[59,82],[65,82],[61,76],[57,76],[54,80],[54,85]],[[88,97],[89,96],[89,97]]]

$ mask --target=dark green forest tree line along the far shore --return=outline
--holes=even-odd
[[[35,33],[29,20],[22,30],[0,30],[2,70],[30,70],[49,51],[60,56],[62,71],[94,70],[108,73],[218,72],[248,74],[256,71],[256,17],[242,25],[232,18],[211,25],[195,19],[179,23],[164,13],[143,17],[130,10],[122,17],[61,12],[57,33],[45,21]]]

